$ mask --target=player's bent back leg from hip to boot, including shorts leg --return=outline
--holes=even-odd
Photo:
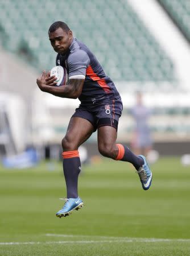
[[[98,148],[102,155],[133,164],[141,179],[143,189],[151,184],[152,174],[146,158],[135,155],[127,146],[116,144],[117,126],[122,113],[121,98],[105,101],[97,106]]]

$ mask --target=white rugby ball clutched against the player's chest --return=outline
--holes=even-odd
[[[56,86],[65,85],[68,82],[67,69],[62,66],[53,67],[50,71],[50,76],[55,76],[57,78],[55,80],[55,82],[57,82]]]

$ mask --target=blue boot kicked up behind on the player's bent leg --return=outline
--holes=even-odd
[[[138,155],[138,156],[144,160],[144,164],[142,167],[139,168],[137,173],[140,177],[143,189],[147,190],[148,188],[150,188],[150,185],[152,182],[152,172],[150,170],[150,167],[148,166],[145,156],[143,155]]]

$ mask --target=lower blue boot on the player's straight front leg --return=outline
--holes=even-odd
[[[56,213],[56,216],[61,218],[61,217],[67,217],[72,213],[73,210],[79,210],[84,206],[84,203],[80,199],[80,197],[77,198],[60,198],[61,200],[65,200],[64,207],[59,210],[59,212]]]

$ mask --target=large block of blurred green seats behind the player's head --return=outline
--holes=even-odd
[[[177,2],[177,1],[173,1]],[[2,0],[3,47],[24,57],[38,71],[55,65],[48,27],[64,20],[96,54],[114,81],[175,81],[166,52],[126,0]]]

